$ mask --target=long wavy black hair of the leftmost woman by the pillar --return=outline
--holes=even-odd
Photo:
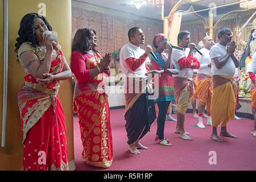
[[[37,13],[28,13],[24,15],[22,20],[20,21],[20,27],[18,31],[19,37],[16,39],[16,43],[15,43],[16,48],[14,52],[18,53],[19,47],[24,42],[30,42],[32,47],[36,47],[40,45],[39,41],[36,39],[36,36],[35,36],[34,22],[36,18],[41,18],[46,24],[48,30],[49,31],[52,30],[52,27],[49,25],[46,18],[44,18],[42,15],[39,15]],[[19,63],[19,59],[17,60],[17,62]]]

